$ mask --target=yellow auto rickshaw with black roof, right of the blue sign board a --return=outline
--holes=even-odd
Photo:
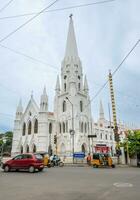
[[[91,165],[93,167],[112,167],[115,168],[113,164],[113,160],[110,154],[105,153],[94,153],[93,158],[91,160]]]

